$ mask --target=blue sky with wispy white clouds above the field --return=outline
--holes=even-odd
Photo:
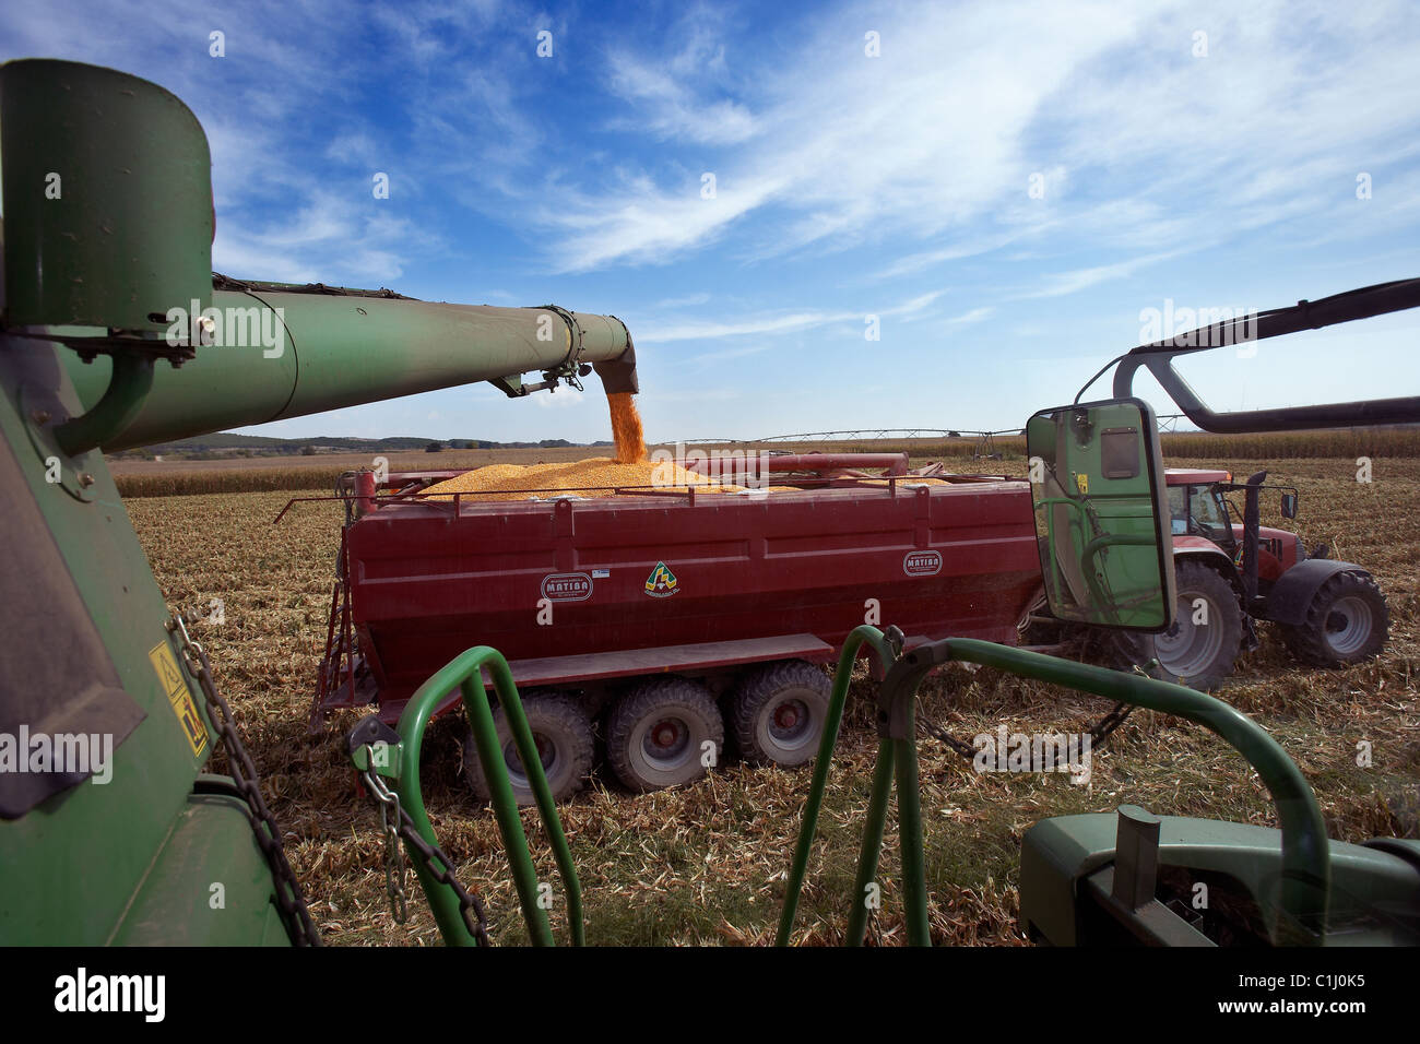
[[[1409,0],[58,0],[9,4],[0,57],[183,98],[230,276],[621,317],[656,440],[1015,428],[1167,300],[1269,308],[1420,274]],[[1233,408],[1413,395],[1417,334],[1372,320],[1190,376]],[[247,430],[609,437],[588,391]]]

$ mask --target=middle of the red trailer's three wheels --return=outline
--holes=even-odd
[[[693,783],[723,750],[720,709],[704,686],[683,678],[646,682],[606,716],[606,760],[635,791]]]

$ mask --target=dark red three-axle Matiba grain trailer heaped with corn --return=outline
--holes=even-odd
[[[727,736],[747,760],[801,764],[828,706],[816,665],[855,626],[896,625],[909,646],[1014,643],[1039,591],[1027,483],[934,467],[944,482],[926,484],[905,455],[892,477],[845,470],[880,456],[771,459],[801,472],[774,483],[801,489],[768,494],[420,500],[457,473],[390,474],[379,490],[352,473],[312,729],[366,703],[393,723],[433,670],[491,645],[559,798],[586,778],[598,722],[633,790],[700,777]],[[530,797],[511,743],[506,757]]]

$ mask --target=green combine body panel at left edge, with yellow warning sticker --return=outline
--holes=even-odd
[[[114,750],[106,784],[80,783],[45,800],[18,820],[0,821],[0,942],[10,945],[102,945],[124,928],[122,918],[152,881],[155,855],[172,844],[175,830],[196,814],[190,805],[193,780],[207,760],[212,741],[195,751],[175,713],[151,651],[173,656],[180,692],[206,720],[202,693],[182,666],[165,629],[168,609],[143,557],[114,480],[98,452],[75,460],[92,476],[87,497],[45,482],[45,462],[34,450],[20,416],[20,385],[30,391],[37,375],[50,374],[60,402],[77,409],[72,388],[58,357],[67,348],[27,338],[0,337],[0,436],[18,464],[7,486],[9,497],[33,497],[54,534],[64,568],[78,585],[84,607],[112,658],[121,687],[146,717]],[[27,570],[34,562],[14,560],[0,574],[0,597],[26,598],[33,588]],[[43,611],[44,607],[36,607]],[[6,649],[14,656],[64,656],[62,631],[47,648]],[[220,682],[220,679],[219,679]],[[229,824],[236,822],[226,817]],[[222,832],[214,825],[187,827]],[[230,839],[236,849],[250,845],[250,828]],[[175,864],[176,865],[176,864]],[[244,871],[237,868],[239,875]],[[219,878],[220,879],[220,878]],[[203,882],[206,888],[207,882]],[[250,888],[239,886],[237,891]],[[267,876],[267,891],[270,876]],[[229,896],[233,893],[229,892]],[[230,906],[229,906],[230,909]],[[241,935],[236,928],[226,937]],[[173,932],[185,930],[169,925]],[[256,943],[268,935],[264,925],[247,925]],[[149,929],[148,937],[153,937]]]

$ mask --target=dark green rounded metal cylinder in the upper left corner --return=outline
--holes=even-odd
[[[0,67],[6,320],[160,332],[212,294],[212,156],[163,88],[97,65]]]

